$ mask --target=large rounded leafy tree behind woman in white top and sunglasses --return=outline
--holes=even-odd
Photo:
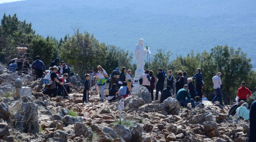
[[[79,28],[74,29],[73,36],[67,36],[64,39],[64,44],[60,48],[61,56],[64,61],[74,65],[75,70],[84,79],[88,63],[103,63],[107,54],[105,43],[99,43],[94,38],[93,34],[84,31],[84,34],[79,32]],[[101,64],[101,66],[104,66]]]

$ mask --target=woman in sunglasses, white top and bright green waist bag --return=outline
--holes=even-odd
[[[107,72],[100,66],[97,66],[98,69],[98,74],[97,74],[97,78],[98,78],[98,86],[99,86],[99,92],[101,95],[101,102],[104,101],[104,89],[105,89],[105,84],[108,78],[108,74]]]

